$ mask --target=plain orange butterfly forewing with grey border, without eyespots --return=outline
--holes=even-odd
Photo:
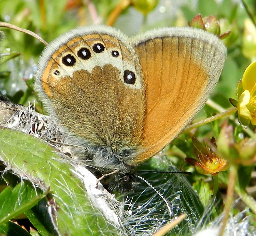
[[[162,150],[204,106],[227,52],[215,35],[195,28],[156,29],[132,43],[146,89],[140,162]]]

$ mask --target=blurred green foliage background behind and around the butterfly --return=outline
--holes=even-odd
[[[142,2],[142,8],[138,2]],[[76,26],[95,23],[95,19],[104,24],[118,3],[119,0],[91,1],[90,4],[93,4],[97,13],[95,15],[88,5],[80,2],[71,7],[67,5],[67,1],[62,0],[0,0],[0,21],[29,29],[40,35],[46,42],[50,42],[55,37]],[[254,18],[256,12],[255,1],[248,0],[245,1],[245,4],[252,13],[252,18]],[[220,108],[228,109],[232,107],[228,98],[236,99],[236,85],[242,78],[245,68],[256,58],[256,54],[254,54],[254,51],[256,51],[256,35],[252,35],[254,36],[252,40],[255,41],[248,42],[245,35],[244,22],[246,19],[250,19],[250,17],[243,4],[231,0],[218,2],[215,0],[188,0],[182,1],[182,3],[181,1],[160,0],[159,2],[156,1],[155,8],[145,14],[145,7],[147,6],[147,1],[134,1],[134,5],[127,7],[117,17],[113,26],[119,28],[127,35],[134,35],[150,28],[186,26],[188,21],[191,21],[200,13],[202,17],[215,15],[220,20],[221,33],[228,30],[232,31],[223,40],[228,49],[228,57],[220,81],[211,96],[212,100]],[[6,36],[1,43],[1,53],[11,53],[11,56],[15,56],[15,58],[7,62],[4,62],[5,57],[2,57],[2,62],[4,63],[0,67],[1,92],[13,102],[21,103],[25,106],[30,102],[36,105],[38,111],[42,111],[41,104],[33,91],[33,73],[36,70],[36,63],[44,45],[30,35],[12,29],[2,28],[1,30],[4,31]],[[17,56],[16,53],[20,53],[20,55]],[[216,107],[206,105],[195,120],[201,120],[218,112],[220,112],[220,109],[217,108],[216,110]],[[211,139],[212,136],[217,139],[220,128],[226,120],[228,118],[199,127],[194,135],[199,140]],[[237,122],[234,120],[228,120],[228,122],[234,126],[237,141],[249,136],[248,132],[245,132]],[[178,169],[188,170],[193,173],[192,177],[188,177],[189,182],[194,186],[201,201],[207,206],[211,201],[213,185],[212,181],[205,181],[209,176],[198,174],[185,161],[185,157],[194,157],[190,136],[191,134],[188,133],[181,134],[164,151],[164,154]],[[161,166],[163,163],[156,163],[155,159],[152,159],[147,164],[152,169],[168,169],[166,166]],[[246,192],[246,187],[252,187],[255,182],[255,180],[250,179],[251,173],[254,171],[254,165],[246,168],[241,166],[238,171],[243,173],[244,181],[237,183],[236,193],[243,198],[242,192]],[[219,193],[225,194],[228,185],[227,176],[228,171],[219,174]],[[252,201],[246,203],[251,208],[255,207],[253,205],[255,193],[254,191],[246,195],[252,199]],[[220,195],[218,195],[219,199],[221,199]],[[219,215],[219,212],[222,211],[222,207],[218,207],[213,214],[215,216]],[[240,205],[235,206],[233,212],[239,212],[240,209]],[[248,214],[252,219],[255,218],[253,211],[250,211]]]

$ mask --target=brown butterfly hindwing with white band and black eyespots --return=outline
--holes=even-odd
[[[76,144],[118,152],[140,143],[143,77],[127,36],[106,26],[76,28],[49,43],[40,62],[36,90]]]

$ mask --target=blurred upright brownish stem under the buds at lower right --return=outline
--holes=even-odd
[[[227,189],[227,198],[225,202],[225,209],[224,209],[224,216],[221,221],[221,227],[220,227],[220,232],[218,236],[222,236],[227,222],[229,218],[229,212],[231,209],[231,206],[233,204],[233,199],[234,199],[234,189],[235,189],[235,183],[236,183],[236,173],[237,173],[237,166],[232,164],[229,167],[229,175],[228,175],[228,189]]]

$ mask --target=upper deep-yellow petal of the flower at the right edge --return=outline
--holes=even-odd
[[[252,95],[256,90],[256,62],[251,63],[244,71],[242,85]]]

